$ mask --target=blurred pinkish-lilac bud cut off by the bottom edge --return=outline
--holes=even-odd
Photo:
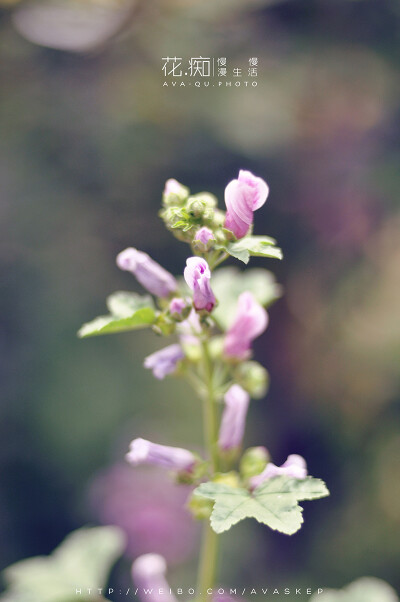
[[[159,554],[143,554],[132,565],[132,579],[142,602],[175,602],[165,578],[167,563]]]

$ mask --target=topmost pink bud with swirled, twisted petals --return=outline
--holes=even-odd
[[[229,182],[225,188],[225,228],[236,238],[246,236],[253,223],[253,212],[264,205],[268,193],[268,185],[262,178],[240,170],[238,179]]]

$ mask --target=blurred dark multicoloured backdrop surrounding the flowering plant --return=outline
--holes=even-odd
[[[167,178],[222,207],[245,168],[271,189],[255,231],[285,253],[252,260],[285,294],[256,344],[271,388],[246,443],[304,455],[332,494],[291,538],[252,521],[224,535],[220,580],[400,589],[399,20],[398,0],[3,0],[2,567],[115,523],[115,582],[159,551],[171,583],[193,584],[184,493],[123,456],[139,435],[200,448],[199,408],[143,370],[154,334],[75,333],[140,290],[115,266],[126,246],[182,272],[157,217]],[[258,57],[258,86],[166,88],[164,56]]]

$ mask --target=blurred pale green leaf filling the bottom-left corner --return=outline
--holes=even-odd
[[[9,589],[3,599],[72,602],[78,588],[82,589],[82,601],[93,600],[93,590],[90,595],[87,588],[104,587],[124,547],[124,535],[117,527],[74,531],[50,556],[29,558],[8,567],[4,577]]]

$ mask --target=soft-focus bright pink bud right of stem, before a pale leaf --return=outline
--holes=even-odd
[[[252,341],[264,332],[268,314],[251,293],[239,296],[236,317],[225,336],[224,352],[229,357],[246,359]]]

